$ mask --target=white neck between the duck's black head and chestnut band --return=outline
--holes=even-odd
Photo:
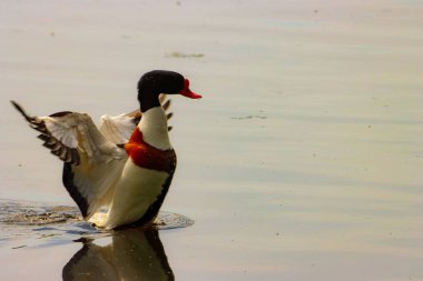
[[[147,112],[142,112],[138,128],[148,144],[161,150],[171,148],[167,131],[167,118],[161,107],[151,108]]]

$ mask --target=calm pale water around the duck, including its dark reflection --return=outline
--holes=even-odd
[[[151,69],[204,99],[174,99],[163,207],[193,227],[2,225],[0,280],[423,280],[422,14],[412,0],[1,1],[1,199],[73,204],[10,99],[98,119],[136,108]]]

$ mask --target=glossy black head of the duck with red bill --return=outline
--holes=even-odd
[[[138,82],[138,100],[141,111],[146,112],[154,107],[160,107],[158,96],[181,94],[190,99],[199,99],[200,94],[189,89],[189,80],[181,74],[168,70],[153,70],[145,73]]]

